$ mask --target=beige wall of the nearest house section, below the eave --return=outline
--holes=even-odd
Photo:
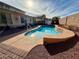
[[[0,23],[0,26],[10,26],[10,27],[18,27],[18,26],[22,26],[22,25],[25,25],[25,23],[22,23],[21,22],[21,16],[20,14],[18,13],[13,13],[13,12],[7,12],[5,10],[1,11],[1,13],[5,13],[5,16],[6,16],[6,21],[7,23],[4,24],[4,23]],[[1,19],[3,20],[3,19]]]

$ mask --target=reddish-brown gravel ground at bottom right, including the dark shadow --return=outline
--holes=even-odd
[[[48,45],[37,45],[26,59],[79,59],[79,36],[65,42]]]

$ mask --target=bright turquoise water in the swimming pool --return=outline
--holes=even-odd
[[[38,39],[43,39],[45,35],[57,35],[60,34],[60,32],[57,31],[56,27],[53,26],[41,26],[38,29],[32,30],[25,35],[29,37],[36,37]]]

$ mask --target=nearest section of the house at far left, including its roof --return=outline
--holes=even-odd
[[[0,26],[10,26],[10,27],[24,26],[25,25],[25,22],[23,22],[23,20],[25,21],[24,15],[25,13],[23,11],[4,3],[1,4],[0,2]],[[7,23],[3,23],[2,21],[6,21]]]

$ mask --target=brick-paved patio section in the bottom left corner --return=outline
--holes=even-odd
[[[10,45],[0,44],[0,59],[24,59],[26,55],[26,51]]]

